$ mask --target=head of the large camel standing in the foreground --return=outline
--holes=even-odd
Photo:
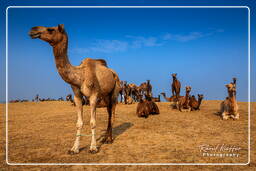
[[[33,27],[31,28],[29,35],[32,39],[39,38],[53,46],[61,42],[66,33],[64,30],[64,25],[59,24],[56,27]]]

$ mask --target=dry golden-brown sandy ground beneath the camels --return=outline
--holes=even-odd
[[[200,111],[181,113],[169,103],[157,103],[160,115],[138,118],[136,104],[119,104],[113,128],[113,144],[101,144],[97,154],[88,153],[91,137],[84,136],[81,152],[68,155],[76,134],[76,112],[69,102],[24,102],[9,104],[10,163],[247,163],[248,104],[239,102],[238,121],[221,120],[216,115],[220,101],[203,101]],[[251,120],[255,120],[256,103],[251,104]],[[255,126],[251,125],[251,163],[247,166],[8,166],[5,163],[5,105],[1,104],[1,163],[3,170],[254,170],[256,169]],[[84,106],[83,134],[90,134],[89,107]],[[105,108],[97,109],[97,138],[107,126]],[[202,145],[216,147],[215,154],[235,157],[203,156]],[[233,152],[221,146],[237,147]],[[205,154],[206,155],[206,154]],[[0,170],[1,170],[0,169]]]

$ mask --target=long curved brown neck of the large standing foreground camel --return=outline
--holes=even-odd
[[[68,37],[66,34],[64,34],[62,41],[56,45],[53,45],[53,53],[55,56],[56,68],[65,82],[71,85],[80,86],[80,72],[78,69],[76,69],[76,67],[70,64],[67,55],[67,49]]]

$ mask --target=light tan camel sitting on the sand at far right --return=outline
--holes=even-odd
[[[222,119],[233,118],[237,120],[239,119],[239,113],[235,96],[236,87],[232,83],[227,84],[226,87],[228,89],[228,97],[220,104]]]

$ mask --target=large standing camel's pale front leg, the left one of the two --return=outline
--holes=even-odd
[[[83,106],[82,106],[82,94],[76,93],[74,96],[74,101],[77,109],[77,123],[76,123],[76,139],[71,150],[68,151],[69,154],[79,153],[79,144],[81,138],[81,129],[83,128]]]

